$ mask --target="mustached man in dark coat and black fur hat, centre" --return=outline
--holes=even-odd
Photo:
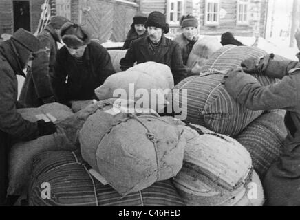
[[[149,36],[137,39],[131,43],[125,58],[120,61],[122,71],[133,67],[134,63],[153,61],[171,68],[175,84],[186,78],[181,50],[177,42],[167,39],[164,34],[169,32],[164,14],[151,12],[145,23]]]

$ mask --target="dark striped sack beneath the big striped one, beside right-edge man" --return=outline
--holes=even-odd
[[[265,113],[237,135],[237,141],[249,151],[253,167],[261,179],[283,152],[283,142],[287,136],[285,113],[283,110]]]

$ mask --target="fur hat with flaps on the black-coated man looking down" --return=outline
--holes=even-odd
[[[91,33],[87,28],[74,22],[67,22],[61,27],[61,39],[69,47],[81,47],[91,42]]]

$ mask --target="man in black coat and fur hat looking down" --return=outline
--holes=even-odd
[[[107,50],[91,41],[89,31],[67,22],[61,28],[65,46],[58,50],[52,86],[54,96],[62,104],[97,99],[94,90],[115,73]]]

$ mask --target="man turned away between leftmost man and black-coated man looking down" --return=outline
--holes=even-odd
[[[49,25],[37,38],[41,42],[40,51],[36,53],[32,68],[28,71],[19,102],[27,107],[39,107],[55,102],[50,76],[53,75],[57,42],[61,41],[60,29],[69,19],[61,16],[52,17]]]

